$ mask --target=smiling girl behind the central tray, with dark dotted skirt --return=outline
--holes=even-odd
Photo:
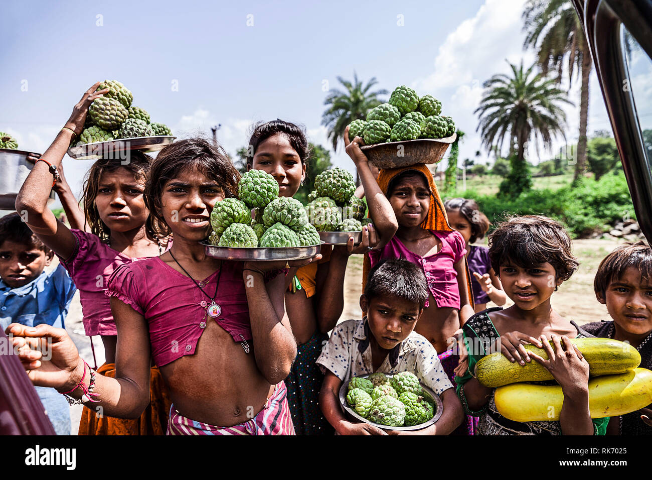
[[[280,197],[293,197],[303,183],[310,157],[308,140],[294,123],[273,120],[254,126],[249,140],[251,156],[247,168],[274,176]],[[315,363],[344,308],[344,273],[351,253],[367,251],[375,238],[373,227],[364,227],[363,241],[353,247],[321,247],[319,262],[290,270],[286,310],[297,341],[297,359],[286,379],[288,404],[295,432],[303,435],[332,434],[333,429],[319,410],[323,374]],[[298,284],[298,285],[297,285]],[[297,288],[298,286],[298,288]]]

